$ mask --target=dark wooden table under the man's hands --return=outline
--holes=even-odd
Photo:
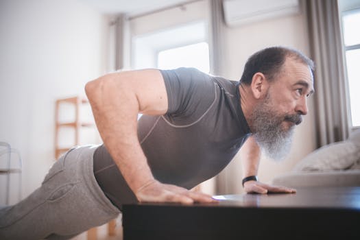
[[[360,239],[360,187],[217,196],[219,204],[123,206],[130,239]]]

